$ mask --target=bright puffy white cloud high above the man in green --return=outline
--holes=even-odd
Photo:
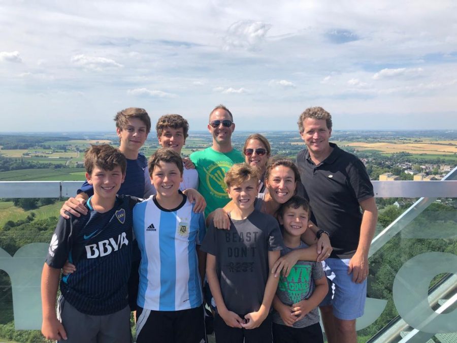
[[[240,20],[228,27],[224,37],[224,49],[256,49],[264,40],[272,25],[251,20]]]

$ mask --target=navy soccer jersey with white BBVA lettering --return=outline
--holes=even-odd
[[[99,213],[86,203],[81,217],[60,217],[46,263],[60,269],[69,260],[73,274],[60,280],[62,296],[87,315],[108,315],[127,306],[132,264],[132,213],[140,200],[117,196],[114,207]]]

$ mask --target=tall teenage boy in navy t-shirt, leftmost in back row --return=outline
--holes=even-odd
[[[129,107],[119,111],[114,117],[116,133],[119,137],[119,150],[127,159],[125,181],[119,189],[119,194],[128,194],[137,198],[148,198],[155,193],[149,179],[148,161],[140,153],[140,149],[148,138],[151,130],[151,119],[146,110],[137,107]],[[84,202],[93,194],[92,185],[87,181],[78,190],[75,198],[68,199],[60,209],[60,215],[68,219],[69,213],[79,216],[86,214]],[[206,203],[202,196],[196,192],[190,192],[189,198],[195,200],[195,210],[203,211]]]

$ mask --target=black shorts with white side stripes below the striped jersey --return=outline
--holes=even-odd
[[[180,311],[137,308],[137,343],[204,343],[203,305]]]

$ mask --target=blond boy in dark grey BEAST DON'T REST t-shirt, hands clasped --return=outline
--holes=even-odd
[[[217,343],[271,342],[270,306],[278,278],[270,272],[282,248],[277,221],[254,209],[256,169],[235,164],[225,174],[227,193],[234,202],[230,229],[211,223],[202,245],[206,272],[216,304]]]

